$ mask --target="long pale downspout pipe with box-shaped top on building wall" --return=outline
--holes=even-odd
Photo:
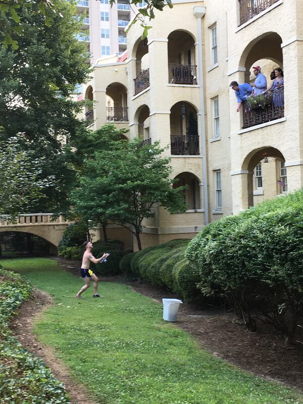
[[[208,173],[206,156],[205,133],[205,109],[204,109],[204,75],[203,75],[203,51],[202,51],[202,18],[206,13],[206,7],[195,6],[193,15],[197,19],[197,46],[198,46],[198,71],[199,71],[199,99],[200,99],[200,125],[201,146],[203,164],[203,199],[204,199],[204,225],[209,224],[209,198],[208,198]]]

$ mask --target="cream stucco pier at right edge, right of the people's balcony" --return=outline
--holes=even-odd
[[[291,128],[284,134],[284,144],[288,146],[283,149],[283,156],[287,168],[287,188],[291,192],[303,187],[303,83],[300,80],[303,40],[302,36],[283,40],[284,114],[287,127]]]

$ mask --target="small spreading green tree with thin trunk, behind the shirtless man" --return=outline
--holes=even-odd
[[[75,214],[93,223],[109,220],[128,228],[141,249],[142,221],[160,204],[170,213],[186,210],[183,187],[173,188],[170,159],[159,143],[115,141],[84,162],[72,191]]]

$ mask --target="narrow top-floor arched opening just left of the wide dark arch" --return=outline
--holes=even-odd
[[[137,42],[136,47],[135,95],[149,87],[148,46],[147,38]]]

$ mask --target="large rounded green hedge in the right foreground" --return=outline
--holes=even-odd
[[[303,190],[205,227],[186,258],[206,295],[232,300],[250,329],[260,313],[294,338],[303,313]]]

